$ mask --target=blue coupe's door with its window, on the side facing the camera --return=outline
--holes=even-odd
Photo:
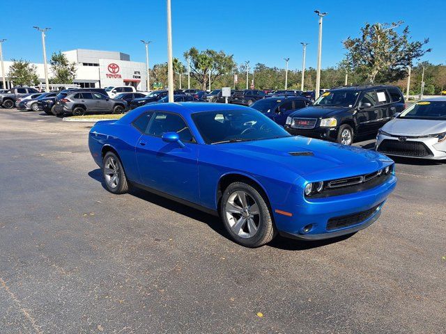
[[[164,142],[161,136],[166,132],[178,133],[185,147]],[[141,181],[157,191],[198,203],[198,146],[181,116],[156,111],[136,147]]]

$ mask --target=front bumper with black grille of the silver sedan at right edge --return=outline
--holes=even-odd
[[[438,138],[406,138],[405,141],[400,141],[401,136],[378,134],[375,150],[392,157],[446,159],[446,141],[439,143]],[[392,150],[389,150],[389,146],[392,147]],[[417,150],[417,148],[420,148],[420,150]]]

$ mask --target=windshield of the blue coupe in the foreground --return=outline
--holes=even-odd
[[[283,127],[254,109],[204,111],[192,114],[192,120],[207,144],[291,136]]]

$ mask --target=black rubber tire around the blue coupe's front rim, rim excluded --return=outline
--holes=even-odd
[[[229,219],[231,219],[232,215],[226,212],[226,205],[233,194],[238,191],[247,193],[247,195],[249,195],[251,199],[254,199],[257,207],[259,208],[259,218],[257,222],[258,225],[256,232],[252,235],[252,237],[240,237],[238,234],[236,234],[236,232],[233,231],[233,229],[231,228],[231,223],[229,223]],[[238,244],[249,248],[255,248],[263,246],[264,244],[268,244],[268,242],[270,242],[275,237],[275,235],[277,234],[277,230],[272,221],[272,214],[270,212],[270,208],[268,207],[267,201],[268,199],[265,195],[263,195],[263,191],[261,191],[260,189],[256,189],[256,186],[252,186],[245,182],[233,182],[229,184],[229,186],[224,190],[222,202],[220,205],[220,216],[224,223],[224,227],[231,235],[231,238]],[[234,216],[232,216],[232,218],[233,217]],[[235,219],[233,225],[236,225]],[[245,226],[245,229],[246,228],[247,225]]]

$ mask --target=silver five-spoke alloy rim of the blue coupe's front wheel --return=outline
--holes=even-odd
[[[231,193],[225,205],[226,218],[232,232],[242,238],[254,237],[260,224],[259,205],[249,193]]]

